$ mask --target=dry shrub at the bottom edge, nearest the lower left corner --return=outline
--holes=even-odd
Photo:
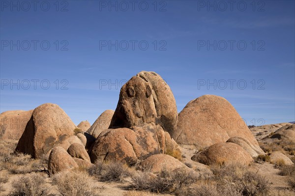
[[[45,186],[47,175],[28,173],[12,181],[10,196],[47,196],[49,189]]]

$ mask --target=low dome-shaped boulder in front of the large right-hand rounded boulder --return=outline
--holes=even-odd
[[[246,150],[230,142],[207,147],[194,155],[192,160],[205,165],[237,165],[239,167],[248,166],[253,162],[253,158]]]

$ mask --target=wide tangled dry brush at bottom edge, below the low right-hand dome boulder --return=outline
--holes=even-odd
[[[211,166],[214,176],[199,180],[183,190],[181,196],[265,196],[270,183],[256,172],[234,165]],[[179,196],[180,196],[179,195]]]

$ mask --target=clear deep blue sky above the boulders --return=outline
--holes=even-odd
[[[27,2],[0,2],[0,112],[52,102],[93,123],[145,70],[170,85],[178,112],[213,94],[247,124],[295,121],[294,0]]]

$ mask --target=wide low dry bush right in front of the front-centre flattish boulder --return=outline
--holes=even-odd
[[[138,172],[132,177],[131,186],[135,190],[148,190],[154,193],[177,193],[197,181],[197,176],[185,169],[162,170],[157,176]]]

